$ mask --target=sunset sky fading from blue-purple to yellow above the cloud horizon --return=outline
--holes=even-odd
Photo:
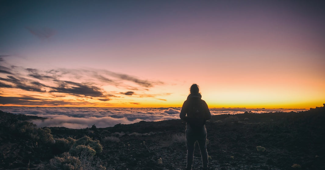
[[[0,1],[0,104],[325,102],[321,1]]]

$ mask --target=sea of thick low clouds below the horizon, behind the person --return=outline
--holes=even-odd
[[[179,119],[181,108],[96,108],[96,107],[14,107],[0,106],[0,110],[14,114],[36,115],[45,120],[33,120],[38,127],[68,127],[74,129],[91,127],[110,127],[115,124],[132,124],[140,121],[161,121]],[[212,115],[305,111],[305,109],[246,109],[212,108]]]

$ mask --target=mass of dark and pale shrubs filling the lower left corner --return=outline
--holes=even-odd
[[[102,152],[98,140],[87,136],[78,140],[72,137],[54,139],[49,128],[38,128],[25,121],[30,118],[38,117],[0,111],[0,144],[3,146],[0,169],[30,167],[30,162],[40,160],[49,160],[48,169],[105,169],[94,157]],[[58,154],[61,156],[53,158]]]

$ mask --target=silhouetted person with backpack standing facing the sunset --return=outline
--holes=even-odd
[[[179,117],[186,122],[186,148],[187,163],[186,170],[192,169],[193,154],[195,142],[198,141],[203,170],[208,169],[208,151],[206,150],[206,120],[211,119],[211,113],[208,105],[201,99],[199,87],[193,84],[190,88],[190,94],[184,101]]]

